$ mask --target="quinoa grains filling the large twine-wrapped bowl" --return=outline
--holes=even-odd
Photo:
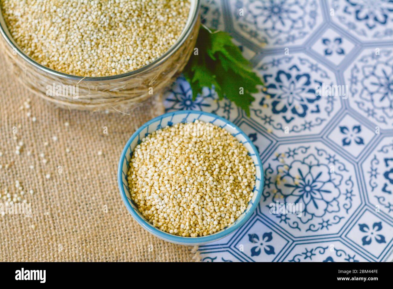
[[[0,0],[7,27],[33,60],[78,76],[141,68],[176,42],[190,0]]]

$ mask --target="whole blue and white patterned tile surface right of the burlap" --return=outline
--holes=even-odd
[[[205,24],[231,33],[267,88],[254,95],[250,118],[228,99],[217,101],[214,88],[193,101],[182,77],[165,94],[167,111],[204,110],[233,121],[258,147],[263,163],[259,207],[230,236],[200,246],[202,260],[392,261],[391,3],[202,3],[211,7],[202,12]],[[348,99],[318,96],[321,83],[347,85]],[[305,193],[306,184],[315,184],[314,195]],[[301,217],[268,210],[271,202],[294,200],[304,204]]]

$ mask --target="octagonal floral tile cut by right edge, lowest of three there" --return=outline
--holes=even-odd
[[[368,202],[393,221],[393,137],[376,145],[362,170]]]

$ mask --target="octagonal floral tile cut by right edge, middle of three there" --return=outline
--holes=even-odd
[[[345,84],[356,112],[381,129],[393,129],[393,50],[378,49],[360,53],[344,72]]]

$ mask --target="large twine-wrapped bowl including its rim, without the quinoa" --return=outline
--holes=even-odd
[[[198,36],[199,4],[200,0],[191,1],[185,28],[178,41],[167,52],[152,63],[125,74],[80,77],[40,65],[29,58],[15,43],[1,11],[0,48],[9,55],[13,73],[22,85],[33,94],[58,107],[127,112],[150,97],[160,99],[164,88],[170,85],[183,70],[194,50]],[[57,87],[61,88],[60,93],[56,93]]]

